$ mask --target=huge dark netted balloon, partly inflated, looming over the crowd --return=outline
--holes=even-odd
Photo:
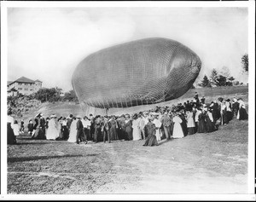
[[[102,49],[73,72],[79,102],[90,107],[134,107],[185,94],[201,70],[200,58],[166,38],[146,38]]]

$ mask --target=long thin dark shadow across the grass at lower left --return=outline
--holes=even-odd
[[[8,158],[9,163],[30,161],[30,160],[45,160],[45,159],[62,159],[62,158],[73,158],[73,157],[82,157],[83,155],[63,155],[63,156],[34,156],[34,157],[11,157]]]

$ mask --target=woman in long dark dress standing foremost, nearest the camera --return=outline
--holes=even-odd
[[[148,118],[148,124],[145,125],[145,132],[148,134],[143,146],[158,146],[158,142],[155,136],[155,124],[152,123],[154,117]]]

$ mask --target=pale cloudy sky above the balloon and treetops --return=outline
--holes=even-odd
[[[247,82],[241,74],[247,8],[9,8],[7,20],[8,81],[24,76],[66,92],[87,55],[137,39],[170,38],[199,55],[198,79],[226,66]]]

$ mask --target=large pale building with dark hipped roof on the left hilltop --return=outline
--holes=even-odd
[[[15,89],[15,90],[14,90]],[[30,95],[42,89],[42,81],[21,77],[13,82],[8,82],[8,95],[16,95],[17,92],[23,95]]]

